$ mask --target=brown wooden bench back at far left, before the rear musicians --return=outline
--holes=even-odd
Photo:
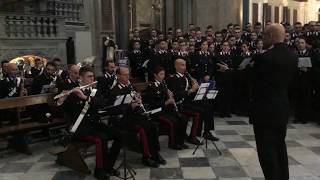
[[[0,99],[0,110],[53,103],[53,93]]]

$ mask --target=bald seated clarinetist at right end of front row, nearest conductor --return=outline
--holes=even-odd
[[[182,112],[192,111],[200,115],[200,123],[193,124],[188,138],[188,142],[192,144],[200,144],[197,135],[201,136],[202,123],[204,123],[204,132],[202,136],[206,139],[218,141],[210,130],[214,129],[213,106],[205,101],[193,101],[192,96],[197,92],[199,85],[196,80],[192,80],[189,74],[186,74],[186,62],[183,59],[175,61],[176,73],[171,75],[168,80],[168,87],[174,93],[176,101],[183,101]],[[194,123],[197,123],[194,121]]]

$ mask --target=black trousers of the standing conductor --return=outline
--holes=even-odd
[[[258,157],[266,180],[288,180],[287,126],[253,124]]]

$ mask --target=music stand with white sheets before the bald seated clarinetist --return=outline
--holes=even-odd
[[[209,90],[210,83],[202,83],[198,89],[198,92],[194,98],[194,101],[203,101],[203,100],[211,100],[211,99],[215,99],[218,91],[217,90]],[[206,137],[203,137],[202,140],[200,141],[200,143],[196,146],[196,148],[194,149],[194,151],[192,152],[192,154],[194,155],[199,146],[205,142],[206,144],[206,149],[208,148],[208,139]],[[214,147],[216,148],[217,152],[219,155],[222,155],[222,152],[220,151],[220,149],[218,148],[217,144],[212,141],[212,144],[214,145]]]

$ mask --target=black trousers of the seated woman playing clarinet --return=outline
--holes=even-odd
[[[184,144],[188,118],[175,111],[162,111],[156,117],[157,120],[169,131],[169,145]]]

